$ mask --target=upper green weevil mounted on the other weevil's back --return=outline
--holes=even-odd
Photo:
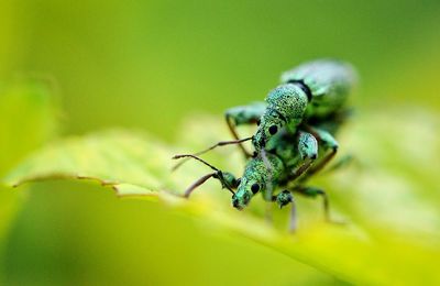
[[[319,59],[283,73],[280,81],[282,85],[273,89],[265,101],[226,111],[226,122],[233,141],[219,142],[195,155],[201,155],[217,146],[238,144],[249,158],[252,153],[242,145],[244,141],[252,140],[254,152],[260,154],[279,130],[286,129],[295,134],[298,129],[304,129],[322,141],[322,147],[328,151],[322,160],[322,167],[330,162],[339,147],[333,134],[350,113],[344,103],[356,81],[354,69],[344,62]],[[255,123],[255,134],[240,139],[237,128]],[[326,125],[327,129],[318,128],[318,124]],[[304,164],[306,167],[308,163]]]

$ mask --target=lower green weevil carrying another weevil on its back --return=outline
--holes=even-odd
[[[220,170],[194,154],[174,156],[176,160],[195,158],[213,170],[189,186],[184,193],[184,197],[188,198],[197,187],[210,178],[218,179],[222,188],[231,191],[232,206],[239,210],[244,209],[258,193],[263,195],[264,200],[275,202],[279,208],[294,204],[293,193],[307,197],[321,196],[323,198],[324,218],[330,221],[327,194],[322,189],[305,185],[307,179],[320,168],[319,165],[305,168],[300,164],[305,160],[318,156],[319,142],[316,138],[311,133],[301,130],[292,134],[284,129],[274,136],[271,144],[272,146],[267,148],[265,158],[255,154],[248,160],[241,178],[237,178],[229,172]],[[296,148],[296,146],[299,147]],[[309,162],[311,163],[311,161]],[[274,193],[274,190],[280,188],[284,189],[277,194]],[[290,231],[296,228],[295,209],[295,206],[293,206]]]

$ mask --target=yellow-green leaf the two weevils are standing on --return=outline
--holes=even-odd
[[[23,162],[6,180],[16,186],[53,178],[96,179],[113,187],[120,196],[155,198],[210,228],[249,238],[341,280],[438,284],[440,276],[435,267],[440,257],[440,194],[433,176],[438,168],[431,166],[440,162],[440,142],[432,133],[440,121],[437,116],[411,110],[410,121],[406,122],[400,112],[408,114],[405,110],[387,110],[356,119],[340,139],[342,148],[352,153],[355,162],[348,169],[311,182],[326,187],[332,216],[343,219],[345,226],[323,223],[318,216],[319,204],[298,197],[296,234],[287,233],[279,223],[268,226],[262,216],[265,206],[261,199],[254,199],[246,211],[233,210],[217,183],[206,185],[189,200],[176,196],[206,174],[206,168],[188,163],[184,170],[169,173],[175,150],[142,132],[111,130],[58,141]],[[197,138],[190,135],[197,130],[223,132],[222,123],[198,117],[185,123],[185,133],[179,138],[197,144]],[[212,143],[224,138],[212,134],[210,140],[198,139]],[[242,169],[237,153],[219,153],[232,154],[217,156],[216,164]],[[275,219],[284,221],[279,217],[287,212],[277,210]]]

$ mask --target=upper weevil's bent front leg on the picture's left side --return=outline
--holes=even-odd
[[[254,102],[248,106],[230,108],[224,112],[224,119],[227,121],[228,128],[231,131],[232,136],[235,140],[240,140],[239,133],[237,132],[237,127],[244,124],[260,123],[260,118],[266,110],[265,102]],[[246,148],[239,144],[246,158],[251,157],[251,153]]]

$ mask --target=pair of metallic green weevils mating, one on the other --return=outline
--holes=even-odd
[[[345,119],[344,103],[354,81],[355,73],[349,64],[320,59],[284,73],[282,85],[268,94],[265,102],[229,109],[226,120],[233,141],[219,142],[196,154],[174,156],[196,158],[215,170],[194,183],[185,191],[185,197],[213,177],[220,180],[222,188],[233,194],[232,206],[237,209],[246,207],[257,193],[279,207],[293,202],[292,193],[298,193],[309,197],[322,196],[326,219],[329,220],[326,193],[307,187],[305,183],[337,153],[338,142],[333,135]],[[239,138],[237,127],[255,123],[257,130],[253,136]],[[255,148],[253,155],[242,145],[249,140]],[[239,179],[198,157],[229,144],[239,144],[248,158],[244,174]],[[277,188],[285,189],[273,195]],[[290,229],[294,226],[293,221]]]

